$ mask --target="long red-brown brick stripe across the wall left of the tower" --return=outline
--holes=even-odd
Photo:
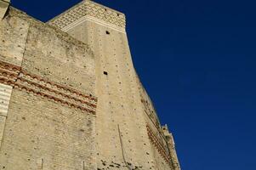
[[[61,105],[67,105],[81,111],[95,114],[97,99],[91,94],[67,88],[56,82],[50,82],[43,77],[22,71],[16,65],[0,61],[0,82],[28,93],[42,96]]]

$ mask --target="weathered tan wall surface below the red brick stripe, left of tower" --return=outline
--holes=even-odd
[[[0,165],[10,170],[94,167],[94,116],[14,89]]]

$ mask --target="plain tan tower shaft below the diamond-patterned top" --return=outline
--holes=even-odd
[[[152,169],[154,159],[126,34],[89,20],[67,32],[88,43],[95,54],[97,167],[119,169],[128,164]]]

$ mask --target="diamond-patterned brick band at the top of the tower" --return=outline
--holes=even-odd
[[[84,20],[94,20],[101,25],[111,26],[118,30],[124,30],[126,26],[124,14],[90,0],[83,0],[73,8],[49,20],[48,24],[66,31]]]

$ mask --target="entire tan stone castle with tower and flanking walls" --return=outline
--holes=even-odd
[[[180,170],[125,26],[89,0],[47,23],[0,0],[0,169]]]

